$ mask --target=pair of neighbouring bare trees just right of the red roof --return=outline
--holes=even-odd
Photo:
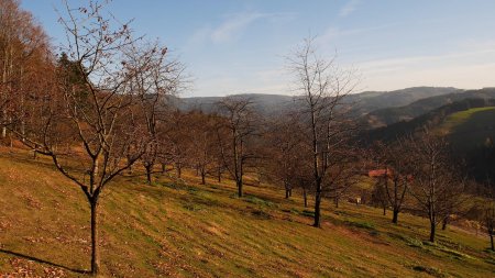
[[[465,181],[462,169],[452,163],[447,141],[429,131],[416,136],[398,138],[388,144],[375,143],[372,167],[382,169],[376,177],[373,201],[393,211],[393,223],[407,205],[427,216],[430,241],[435,242],[436,227],[444,230],[453,214],[465,203]]]

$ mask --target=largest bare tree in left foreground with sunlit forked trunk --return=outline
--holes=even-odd
[[[103,16],[100,3],[78,9],[65,4],[65,52],[82,79],[59,78],[58,86],[45,88],[50,93],[29,114],[26,122],[33,124],[25,133],[14,132],[50,156],[85,193],[91,212],[91,274],[97,275],[101,192],[155,144],[157,104],[173,90],[180,69],[168,62],[166,47],[140,46],[128,24]]]

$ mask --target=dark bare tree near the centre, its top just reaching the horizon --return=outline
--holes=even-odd
[[[246,163],[256,156],[250,149],[250,140],[256,134],[256,116],[251,108],[250,99],[227,97],[219,103],[219,112],[226,121],[218,129],[218,142],[221,157],[227,170],[235,180],[238,196],[243,196],[243,177]],[[221,130],[227,130],[228,138],[221,136]]]

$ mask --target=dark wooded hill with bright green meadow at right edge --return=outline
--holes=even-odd
[[[367,132],[369,143],[392,142],[428,129],[446,136],[455,156],[465,162],[466,173],[479,181],[495,178],[495,99],[464,99]]]

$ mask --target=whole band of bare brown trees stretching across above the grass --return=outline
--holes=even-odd
[[[86,197],[92,274],[100,267],[101,192],[118,187],[112,181],[119,176],[153,186],[160,175],[180,179],[184,169],[204,185],[234,180],[239,198],[245,182],[284,188],[287,199],[301,194],[315,227],[321,226],[323,200],[338,207],[358,196],[355,202],[392,211],[391,225],[405,211],[427,218],[431,242],[439,226],[468,218],[484,226],[494,249],[493,179],[469,175],[449,140],[427,124],[431,116],[391,125],[386,135],[387,127],[370,133],[350,97],[359,76],[333,57],[321,58],[312,37],[287,55],[297,96],[278,116],[235,96],[216,102],[213,111],[183,111],[170,101],[189,88],[183,64],[160,41],[136,36],[103,11],[98,2],[67,8],[61,23],[68,40],[58,51],[18,1],[0,1],[1,142],[22,144],[33,159],[50,157]],[[431,113],[440,121],[493,103],[465,100]],[[493,142],[486,148],[493,153]],[[370,177],[373,190],[356,191]],[[479,197],[482,202],[470,201]]]

